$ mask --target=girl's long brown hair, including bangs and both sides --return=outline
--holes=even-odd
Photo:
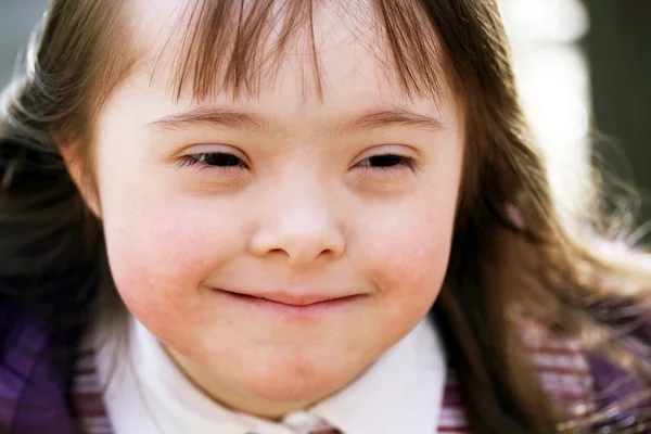
[[[52,0],[27,71],[0,107],[0,304],[37,311],[58,330],[78,334],[91,321],[101,289],[115,293],[101,221],[71,179],[62,151],[74,146],[92,168],[93,123],[125,77],[142,64],[155,71],[169,54],[176,72],[170,91],[177,97],[254,94],[272,78],[267,66],[280,65],[299,35],[311,46],[320,98],[310,31],[319,3],[187,1],[188,22],[178,23],[173,33],[178,43],[169,44],[178,50],[168,52],[166,44],[152,54],[129,37],[133,23],[126,0]],[[649,346],[638,333],[651,291],[648,257],[607,241],[605,227],[593,217],[604,208],[597,178],[591,205],[572,219],[560,217],[545,159],[521,112],[495,0],[369,4],[380,43],[388,47],[378,55],[395,71],[401,91],[437,98],[449,88],[465,112],[461,197],[434,310],[472,429],[548,433],[607,421],[612,408],[598,403],[586,403],[590,410],[574,419],[557,411],[528,360],[519,319],[580,343],[586,354],[629,372],[646,391],[644,355],[628,344]],[[92,170],[86,181],[93,184]]]

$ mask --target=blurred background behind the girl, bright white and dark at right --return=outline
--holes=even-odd
[[[0,0],[0,87],[46,5]],[[501,8],[523,103],[558,169],[551,182],[562,207],[583,204],[588,163],[651,197],[651,0],[501,0]],[[649,199],[638,222],[648,220]]]

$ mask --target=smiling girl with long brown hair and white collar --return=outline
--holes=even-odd
[[[52,0],[5,95],[2,432],[650,430],[493,0]]]

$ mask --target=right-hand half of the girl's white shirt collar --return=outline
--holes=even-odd
[[[432,434],[446,370],[441,337],[424,319],[366,373],[310,412],[345,434]]]

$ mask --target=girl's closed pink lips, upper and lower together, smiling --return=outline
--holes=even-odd
[[[293,317],[314,316],[337,310],[365,297],[362,294],[333,296],[277,292],[265,293],[264,295],[251,295],[225,290],[216,290],[216,292],[240,305]]]

